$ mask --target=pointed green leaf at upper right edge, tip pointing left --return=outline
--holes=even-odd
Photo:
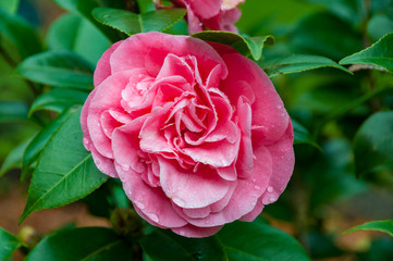
[[[340,61],[340,64],[370,64],[393,73],[393,33],[379,39],[369,48]]]

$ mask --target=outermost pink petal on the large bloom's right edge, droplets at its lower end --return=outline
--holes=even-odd
[[[263,204],[277,201],[291,178],[295,165],[292,123],[290,122],[283,137],[275,144],[267,147],[272,158],[273,173],[269,181],[269,189],[262,196]]]

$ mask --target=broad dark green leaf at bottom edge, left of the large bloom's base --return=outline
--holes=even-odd
[[[26,261],[132,260],[132,246],[106,227],[60,231],[44,238]]]

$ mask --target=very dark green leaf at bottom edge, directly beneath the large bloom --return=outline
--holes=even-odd
[[[170,231],[156,229],[140,239],[150,261],[224,261],[225,252],[216,237],[186,238]]]

